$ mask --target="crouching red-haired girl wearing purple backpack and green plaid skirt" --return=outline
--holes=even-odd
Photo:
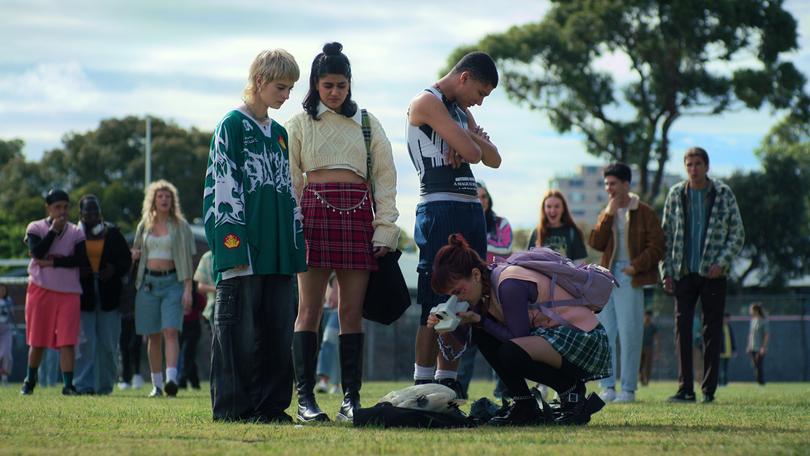
[[[607,301],[612,284],[603,268],[577,268],[546,248],[513,254],[490,270],[463,236],[450,235],[436,254],[431,286],[470,308],[457,314],[459,327],[451,337],[441,335],[440,346],[453,359],[474,343],[506,384],[513,402],[490,425],[525,426],[552,419],[585,424],[604,405],[595,394],[585,398],[585,382],[611,374],[607,333],[594,310]],[[428,327],[438,322],[430,314]],[[541,411],[526,379],[557,391],[560,408],[553,417]]]

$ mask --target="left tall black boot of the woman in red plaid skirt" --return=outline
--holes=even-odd
[[[298,421],[329,421],[326,413],[315,401],[315,363],[318,360],[318,333],[300,331],[293,333],[293,368],[295,389],[298,393]]]

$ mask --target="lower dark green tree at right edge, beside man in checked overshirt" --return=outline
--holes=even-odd
[[[740,283],[756,276],[760,286],[780,288],[810,273],[810,130],[790,120],[778,124],[757,153],[762,170],[734,173],[734,190],[745,225]]]

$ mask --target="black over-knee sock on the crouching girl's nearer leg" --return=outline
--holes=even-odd
[[[556,369],[546,363],[533,360],[525,350],[514,342],[510,341],[503,344],[498,353],[503,364],[508,366],[508,370],[513,373],[512,376],[520,379],[526,392],[529,391],[525,381],[527,378],[550,386],[561,397],[565,393],[575,392],[578,389],[578,384],[584,387],[584,383],[579,380],[579,377],[571,376],[563,368]],[[564,366],[565,362],[565,359],[563,359]],[[567,370],[570,371],[570,369]],[[506,379],[503,380],[506,383]],[[509,383],[506,383],[506,386],[512,391],[512,386]]]

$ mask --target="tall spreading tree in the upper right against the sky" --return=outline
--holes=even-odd
[[[553,1],[539,22],[454,51],[483,50],[499,64],[508,96],[547,113],[559,132],[582,134],[588,152],[637,164],[655,199],[673,124],[770,105],[808,118],[805,77],[782,59],[796,20],[780,0]],[[605,61],[626,59],[622,80]]]

